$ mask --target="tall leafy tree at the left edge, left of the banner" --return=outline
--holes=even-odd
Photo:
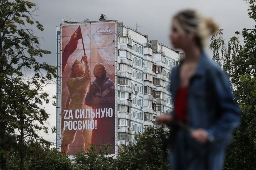
[[[40,49],[38,37],[27,27],[35,24],[43,31],[43,26],[33,18],[35,10],[36,4],[29,1],[0,1],[0,159],[3,170],[15,149],[20,156],[20,169],[24,169],[26,143],[43,140],[38,130],[48,132],[45,121],[49,115],[42,104],[49,102],[49,95],[43,87],[57,75],[55,67],[36,59],[50,51]]]

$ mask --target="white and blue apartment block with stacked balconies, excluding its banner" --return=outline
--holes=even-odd
[[[113,21],[113,20],[112,20]],[[117,20],[114,20],[117,22]],[[101,19],[97,22],[106,22]],[[86,24],[87,22],[83,22]],[[61,73],[61,32],[57,26],[57,67]],[[149,40],[148,36],[117,22],[115,154],[121,144],[133,142],[148,126],[159,127],[156,117],[173,109],[171,69],[180,52]],[[61,77],[57,79],[56,147],[61,147]],[[166,128],[166,127],[165,127]]]

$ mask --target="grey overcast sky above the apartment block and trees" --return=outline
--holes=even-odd
[[[109,20],[118,20],[124,25],[136,28],[149,40],[158,40],[171,47],[168,39],[170,19],[179,10],[198,9],[204,15],[212,17],[224,29],[224,39],[234,36],[235,31],[252,28],[255,23],[248,17],[248,4],[243,0],[32,0],[37,3],[39,11],[35,17],[43,26],[44,31],[34,29],[35,35],[42,37],[41,48],[50,50],[42,60],[56,65],[56,25],[62,18],[74,21],[97,21],[101,13]],[[208,55],[211,51],[205,49]],[[56,93],[55,84],[46,89],[50,95]],[[49,126],[56,124],[56,108],[51,104],[45,105],[51,114]],[[55,134],[44,135],[45,139],[55,141]]]

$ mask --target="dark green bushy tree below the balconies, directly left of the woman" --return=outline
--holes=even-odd
[[[168,169],[169,150],[165,146],[169,131],[163,127],[154,129],[149,126],[136,135],[136,144],[123,145],[115,160],[117,169]]]

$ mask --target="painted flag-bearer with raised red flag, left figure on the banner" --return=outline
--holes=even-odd
[[[69,56],[77,48],[79,39],[82,39],[82,43],[83,43],[83,37],[82,37],[80,26],[73,33],[73,35],[70,38],[70,41],[65,46],[64,51],[62,52],[62,74],[66,68],[67,60]],[[84,49],[84,44],[83,44],[83,49]],[[82,61],[84,61],[84,69],[81,63]],[[90,73],[88,60],[87,60],[87,56],[85,55],[85,49],[84,49],[84,56],[80,61],[77,59],[75,60],[71,68],[70,78],[68,78],[67,80],[69,95],[66,102],[65,110],[72,110],[72,113],[74,114],[75,110],[77,109],[78,110],[89,109],[89,108],[85,108],[87,106],[84,105],[84,98],[85,98],[90,80],[91,80],[91,73]],[[75,117],[75,115],[73,115],[73,117]],[[70,120],[66,119],[66,121],[70,121]],[[76,132],[77,132],[77,129],[76,130],[65,129],[62,131],[62,152],[68,153],[69,145],[74,142]],[[91,131],[89,129],[83,129],[82,136],[85,141],[84,149],[85,150],[89,149],[89,144],[91,143]]]

